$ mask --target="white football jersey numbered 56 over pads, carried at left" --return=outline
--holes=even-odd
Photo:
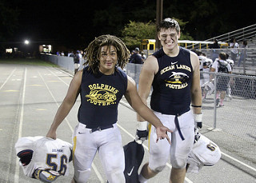
[[[33,177],[36,169],[52,169],[67,176],[72,145],[61,139],[48,137],[21,137],[15,144],[16,153],[33,150],[33,156],[28,165],[21,165],[28,177]]]

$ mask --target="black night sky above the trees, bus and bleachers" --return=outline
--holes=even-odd
[[[119,24],[127,23],[129,20],[148,22],[149,20],[154,20],[155,18],[156,2],[155,0],[73,0],[68,2],[60,0],[13,0],[11,2],[7,0],[4,1],[6,1],[6,3],[8,3],[8,6],[11,6],[13,9],[17,8],[18,10],[20,10],[20,15],[18,17],[18,30],[13,37],[9,38],[9,41],[29,39],[32,42],[58,42],[59,45],[69,46],[70,48],[74,49],[77,49],[78,46],[85,47],[90,41],[92,41],[93,38],[97,37],[102,32],[104,34],[111,33],[107,32],[107,29],[109,27],[106,26],[108,25],[107,22],[110,19],[109,17],[107,17],[109,15],[106,15],[105,19],[102,18],[102,20],[100,20],[102,22],[99,21],[100,23],[95,26],[95,10],[102,10],[102,12],[104,10],[110,11],[110,6],[114,9],[116,5],[116,8],[120,9],[116,10],[116,12],[119,11],[119,14],[113,14],[112,18],[114,18],[116,22],[118,22],[118,19],[120,20],[120,22],[122,21],[122,23],[119,22]],[[149,2],[151,3],[149,4]],[[242,28],[243,26],[250,26],[251,24],[255,23],[255,19],[254,16],[248,16],[252,12],[252,9],[248,8],[251,6],[251,2],[248,2],[249,1],[247,0],[244,0],[242,2],[240,1],[241,4],[238,5],[236,1],[216,0],[214,1],[214,3],[216,3],[216,6],[219,6],[218,14],[216,14],[216,16],[219,16],[224,22],[230,22],[230,31]],[[187,5],[192,4],[192,2],[190,2],[189,0],[184,0],[183,2],[163,0],[163,3],[163,16],[165,16],[165,13],[168,13],[168,16],[170,14],[170,17],[172,17],[172,14],[174,14],[175,16],[177,12],[186,12],[186,8],[188,7]],[[195,4],[195,2],[193,3]],[[168,6],[172,6],[172,9],[169,8],[169,12],[167,12]],[[195,4],[195,6],[198,5]],[[240,10],[238,9],[238,6],[241,7]],[[106,7],[108,9],[106,9]],[[151,8],[149,9],[152,12],[150,16],[148,14],[144,15],[141,13],[139,15],[139,18],[141,19],[139,19],[138,14],[137,17],[136,15],[134,15],[134,9],[138,11],[142,10],[145,7]],[[231,12],[231,14],[234,12],[234,18],[226,18],[225,20],[225,14],[227,11]],[[181,16],[183,16],[182,19],[184,21],[187,21],[186,14],[183,14]],[[253,20],[247,21],[247,19],[244,17],[248,17]],[[233,23],[233,26],[231,22]],[[192,26],[190,25],[190,27],[194,27],[194,31],[197,31],[195,23]],[[223,25],[220,25],[219,29],[221,29],[222,26]],[[116,27],[116,29],[118,29],[118,27]],[[190,30],[190,33],[193,34],[193,30]]]

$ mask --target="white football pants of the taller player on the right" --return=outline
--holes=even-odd
[[[186,167],[187,157],[194,144],[194,116],[190,111],[183,113],[178,117],[178,123],[182,131],[182,135],[185,138],[182,141],[178,133],[178,129],[174,123],[174,115],[166,115],[158,112],[154,112],[156,116],[162,121],[162,124],[173,131],[168,133],[170,137],[171,145],[166,139],[159,140],[156,143],[156,130],[153,125],[150,129],[150,169],[160,172],[166,166],[167,161],[170,158],[171,165],[176,169],[183,169]]]

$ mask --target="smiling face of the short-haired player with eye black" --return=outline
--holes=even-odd
[[[174,28],[162,29],[158,34],[158,39],[161,41],[164,50],[173,50],[178,46],[179,37],[180,33],[178,33]]]

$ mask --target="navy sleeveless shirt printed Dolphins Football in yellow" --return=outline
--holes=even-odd
[[[96,128],[118,121],[118,103],[127,89],[127,75],[120,69],[114,74],[94,74],[86,66],[82,73],[81,105],[78,121]]]

